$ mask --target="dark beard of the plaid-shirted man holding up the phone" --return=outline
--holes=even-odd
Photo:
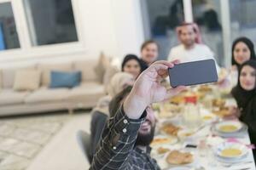
[[[150,132],[146,134],[138,133],[135,145],[148,146],[154,139],[154,128],[155,126],[151,127]]]

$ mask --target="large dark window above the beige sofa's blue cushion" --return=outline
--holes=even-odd
[[[77,42],[71,0],[24,0],[32,46]]]

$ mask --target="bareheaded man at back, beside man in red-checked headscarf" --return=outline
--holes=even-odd
[[[159,53],[159,45],[154,40],[143,42],[141,47],[141,66],[142,71],[145,71],[149,65],[152,65],[157,60]]]

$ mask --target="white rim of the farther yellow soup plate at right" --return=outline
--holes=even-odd
[[[225,131],[225,130],[221,129],[224,126],[232,126],[232,127],[236,127],[236,129],[233,129],[230,131]],[[218,122],[215,125],[216,130],[220,133],[236,133],[241,129],[241,127],[242,127],[242,124],[241,124],[241,122],[238,122],[238,121]]]

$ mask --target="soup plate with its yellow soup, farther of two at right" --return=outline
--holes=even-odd
[[[242,123],[238,121],[218,122],[215,129],[220,133],[236,133],[241,130]]]

